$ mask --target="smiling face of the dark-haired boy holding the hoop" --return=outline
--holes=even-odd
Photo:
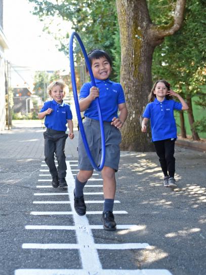
[[[92,72],[94,77],[99,80],[105,80],[110,76],[111,66],[106,57],[92,60]]]

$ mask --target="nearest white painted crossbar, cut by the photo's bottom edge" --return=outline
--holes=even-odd
[[[15,275],[172,275],[166,269],[16,269]]]

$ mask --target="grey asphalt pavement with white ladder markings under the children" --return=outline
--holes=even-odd
[[[205,274],[205,152],[176,146],[178,187],[168,188],[154,152],[122,151],[119,228],[109,232],[99,173],[85,188],[87,217],[72,214],[78,132],[65,147],[68,190],[51,188],[43,132],[19,125],[0,134],[0,275]]]

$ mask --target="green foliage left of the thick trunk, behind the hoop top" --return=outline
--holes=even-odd
[[[29,0],[34,4],[33,14],[40,20],[59,16],[72,23],[72,28],[80,35],[87,52],[100,48],[108,52],[113,60],[112,78],[119,78],[119,40],[115,0],[64,0],[56,4],[50,1]],[[49,30],[49,26],[47,26]],[[68,39],[61,41],[61,50],[68,55]],[[118,43],[117,43],[118,42]],[[81,51],[75,47],[77,61]]]

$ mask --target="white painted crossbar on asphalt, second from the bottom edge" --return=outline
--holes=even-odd
[[[125,249],[151,249],[149,244],[93,244],[96,249],[125,250]],[[23,249],[85,249],[90,244],[23,244]]]

